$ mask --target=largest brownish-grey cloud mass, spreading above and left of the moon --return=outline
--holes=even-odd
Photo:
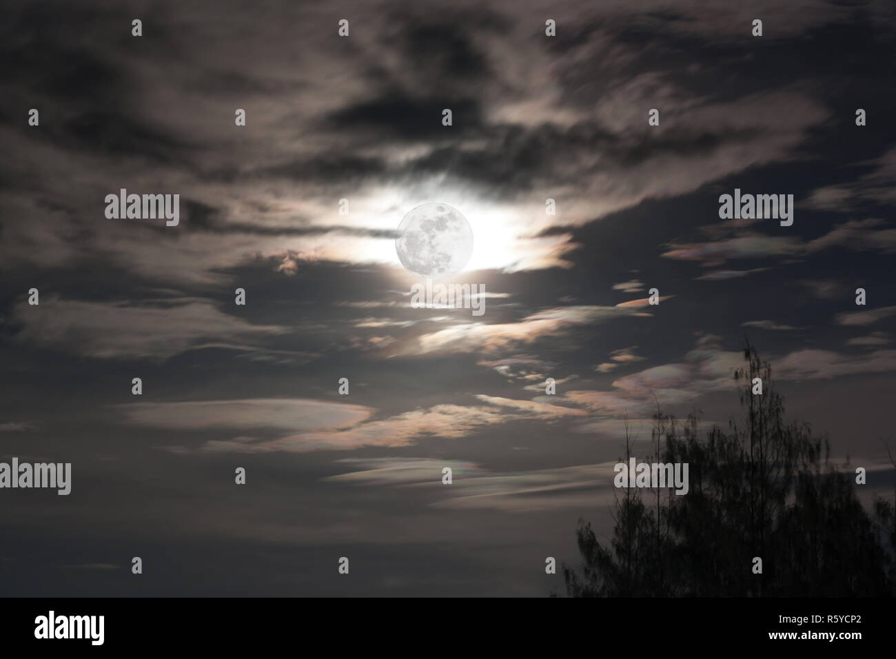
[[[572,234],[543,232],[792,159],[830,114],[797,86],[694,90],[692,76],[676,75],[677,39],[719,48],[737,21],[697,6],[662,22],[623,4],[568,8],[558,21],[574,27],[552,42],[533,41],[519,16],[536,10],[519,4],[444,7],[437,21],[421,9],[352,5],[365,28],[335,45],[324,30],[292,39],[290,25],[320,21],[309,5],[280,4],[278,21],[247,26],[225,3],[213,22],[148,18],[167,47],[151,62],[99,38],[127,7],[69,13],[53,26],[22,10],[4,26],[4,58],[20,63],[4,98],[55,120],[41,131],[0,129],[13,154],[0,178],[17,184],[2,202],[29,218],[4,227],[2,268],[103,263],[199,285],[228,282],[259,259],[285,276],[323,261],[388,268],[402,212],[434,195],[469,213],[472,267],[569,268]],[[766,13],[790,15],[773,5]],[[635,33],[620,34],[630,22]],[[780,29],[808,28],[804,17]],[[47,73],[45,61],[65,62],[65,74]],[[90,82],[90,95],[75,79]],[[427,91],[432,80],[438,91]],[[649,128],[637,108],[658,100],[663,125]],[[232,117],[210,120],[220,108],[247,108],[242,132],[252,139]],[[119,187],[183,195],[181,225],[107,221],[102,200]],[[346,189],[351,212],[341,217],[334,200]],[[556,216],[532,212],[547,195],[564,200]]]

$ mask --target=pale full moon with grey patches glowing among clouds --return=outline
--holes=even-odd
[[[473,254],[470,222],[453,206],[426,202],[410,209],[398,225],[395,251],[401,264],[426,279],[461,273]]]

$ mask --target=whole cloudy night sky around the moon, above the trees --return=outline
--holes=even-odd
[[[657,402],[727,422],[745,336],[892,490],[894,37],[890,0],[4,6],[0,460],[73,484],[0,490],[0,594],[563,592],[623,415],[635,455]],[[409,307],[426,201],[483,316]]]

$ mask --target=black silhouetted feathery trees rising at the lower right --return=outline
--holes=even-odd
[[[830,462],[826,439],[785,420],[771,366],[747,343],[735,372],[743,418],[701,438],[657,411],[657,462],[687,463],[689,491],[628,488],[608,546],[580,521],[582,572],[564,565],[572,596],[848,596],[892,594],[896,505],[870,516],[854,474]],[[762,395],[754,394],[754,378]],[[626,432],[627,463],[631,442]],[[650,460],[650,458],[647,458]],[[647,461],[645,460],[645,461]],[[896,502],[896,495],[894,495]],[[753,559],[762,558],[762,574]]]

